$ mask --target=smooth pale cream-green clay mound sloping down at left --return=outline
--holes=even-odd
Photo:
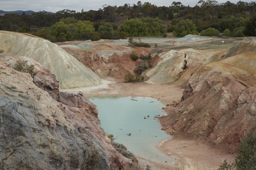
[[[0,31],[5,54],[28,56],[56,75],[61,89],[97,86],[101,79],[56,44],[30,34]]]

